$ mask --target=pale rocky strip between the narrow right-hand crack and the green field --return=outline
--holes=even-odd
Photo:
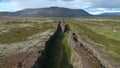
[[[87,49],[87,51],[91,55],[93,55],[96,59],[98,59],[105,68],[119,68],[120,67],[119,64],[109,61],[109,59],[106,58],[107,53],[104,52],[103,50],[97,49],[95,47],[96,44],[94,42],[90,40],[89,42],[85,42],[80,38],[79,35],[78,37],[79,37],[79,42],[81,42],[84,45],[84,48]]]

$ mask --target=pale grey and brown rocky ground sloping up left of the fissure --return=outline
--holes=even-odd
[[[5,64],[1,68],[31,68],[42,57],[45,41],[49,39],[50,33],[51,31],[43,32],[25,42],[4,45],[7,48],[3,49],[1,55],[6,57],[2,58]]]

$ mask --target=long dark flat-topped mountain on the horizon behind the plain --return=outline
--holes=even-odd
[[[80,17],[91,16],[91,14],[82,9],[50,7],[50,8],[24,9],[16,12],[0,12],[0,16]]]

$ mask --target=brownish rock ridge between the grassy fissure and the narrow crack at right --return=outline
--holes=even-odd
[[[84,48],[75,33],[70,33],[68,43],[71,48],[73,68],[101,68],[100,62]]]

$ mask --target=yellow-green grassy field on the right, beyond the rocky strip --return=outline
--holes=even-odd
[[[90,39],[104,49],[108,58],[120,64],[120,18],[74,18],[67,19],[73,31],[79,32],[84,40]]]

